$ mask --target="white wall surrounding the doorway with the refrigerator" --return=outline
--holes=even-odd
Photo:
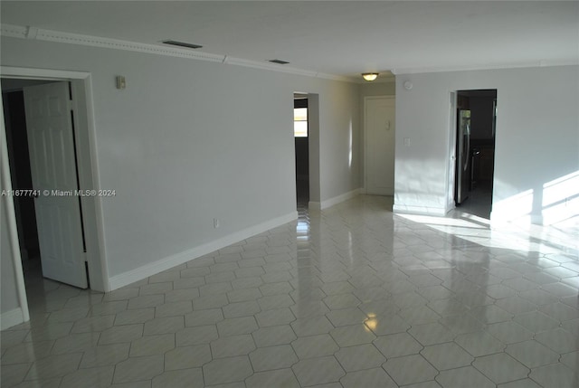
[[[450,210],[449,96],[476,89],[498,90],[492,220],[552,223],[579,214],[578,66],[398,74],[394,210]]]

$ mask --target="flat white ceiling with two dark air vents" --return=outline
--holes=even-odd
[[[579,63],[579,2],[0,2],[3,24],[198,51],[334,75]]]

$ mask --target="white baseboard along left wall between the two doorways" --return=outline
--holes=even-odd
[[[168,256],[165,259],[157,260],[135,270],[128,270],[127,272],[123,272],[109,279],[110,290],[112,291],[114,289],[120,289],[121,287],[127,286],[136,281],[146,279],[149,276],[153,276],[164,270],[169,270],[173,267],[181,265],[189,260],[194,260],[208,253],[225,248],[231,244],[234,244],[235,242],[248,239],[256,234],[269,231],[270,229],[276,228],[280,225],[283,225],[284,223],[292,222],[297,219],[298,212],[282,215],[270,221],[253,225],[249,228],[243,229],[242,231],[234,232],[222,237],[221,239],[207,242],[191,250]]]

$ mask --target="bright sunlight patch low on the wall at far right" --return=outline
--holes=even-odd
[[[498,201],[492,213],[493,222],[579,223],[579,171]]]

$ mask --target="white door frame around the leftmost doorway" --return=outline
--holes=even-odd
[[[74,131],[76,137],[76,151],[78,155],[77,169],[79,185],[82,190],[94,190],[100,187],[98,159],[96,147],[96,130],[92,99],[92,78],[90,72],[83,71],[55,71],[47,69],[32,69],[23,67],[0,66],[1,78],[28,79],[28,80],[63,80],[71,82],[72,107],[74,109]],[[0,102],[2,99],[0,98]],[[5,144],[5,118],[2,116],[2,134],[0,140]],[[4,147],[4,146],[3,146]],[[5,154],[3,152],[3,154]],[[4,158],[4,156],[3,156]],[[7,161],[8,156],[5,156]],[[5,189],[12,187],[10,167],[2,164],[2,174],[5,176]],[[14,215],[14,201],[5,196],[7,204],[8,233],[13,245],[12,259],[18,297],[23,309],[24,321],[28,320],[28,306],[26,290],[24,288],[24,273],[20,257],[16,219]],[[101,292],[110,290],[107,270],[107,260],[104,243],[104,223],[102,219],[102,201],[99,196],[81,197],[82,222],[87,243],[87,262],[89,267],[90,289]],[[15,244],[15,245],[14,245]]]

